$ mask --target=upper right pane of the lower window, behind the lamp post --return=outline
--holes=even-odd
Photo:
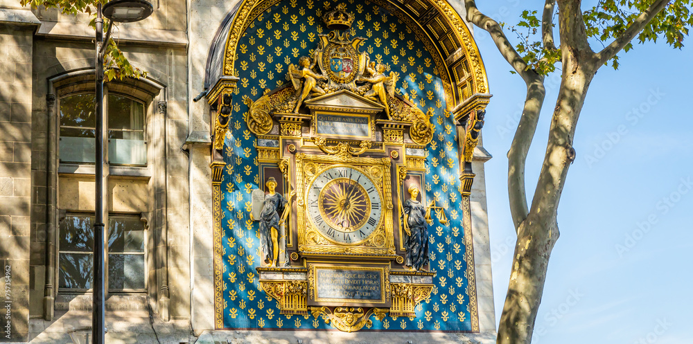
[[[110,252],[144,252],[144,224],[137,217],[110,217],[108,249]]]

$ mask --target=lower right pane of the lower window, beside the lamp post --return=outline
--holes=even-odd
[[[144,289],[144,255],[108,255],[109,289]]]

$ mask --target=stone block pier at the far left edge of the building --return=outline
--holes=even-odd
[[[32,44],[37,21],[0,8],[0,342],[28,338]],[[40,212],[41,209],[36,209]]]

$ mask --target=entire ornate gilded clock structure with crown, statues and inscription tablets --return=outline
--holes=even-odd
[[[447,224],[426,200],[430,114],[398,96],[398,73],[370,60],[337,6],[291,83],[249,105],[258,140],[262,289],[281,314],[312,314],[345,332],[371,316],[414,316],[430,295],[428,226]],[[277,124],[278,123],[278,124]]]

